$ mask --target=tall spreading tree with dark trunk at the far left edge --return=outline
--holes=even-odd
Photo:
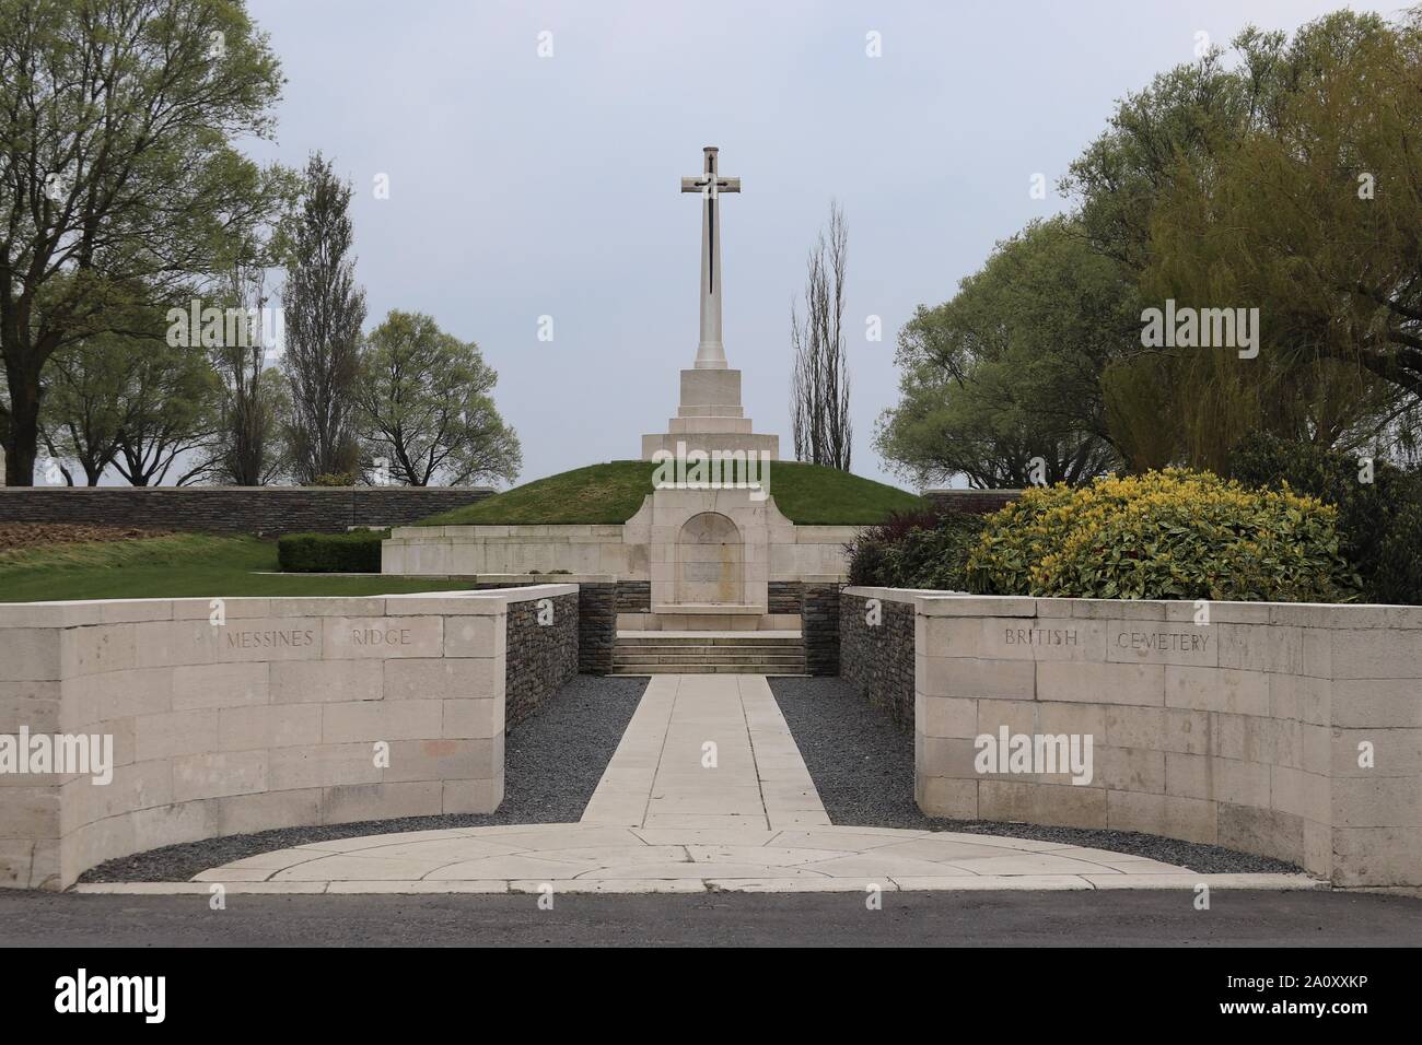
[[[33,482],[50,358],[175,297],[286,198],[230,144],[270,135],[280,87],[242,0],[0,0],[10,485]]]

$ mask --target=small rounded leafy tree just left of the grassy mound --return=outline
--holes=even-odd
[[[513,481],[518,435],[491,392],[498,374],[474,341],[445,334],[421,313],[391,311],[370,334],[357,382],[360,431],[370,458],[410,486]]]

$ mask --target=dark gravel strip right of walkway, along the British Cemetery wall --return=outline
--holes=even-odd
[[[913,734],[838,678],[772,678],[781,712],[836,825],[1005,835],[1146,856],[1202,874],[1297,872],[1291,863],[1129,830],[924,816],[913,800]]]

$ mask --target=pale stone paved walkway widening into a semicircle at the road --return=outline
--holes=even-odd
[[[990,835],[833,826],[764,675],[658,675],[579,823],[314,842],[188,883],[81,893],[641,893],[1313,889]]]

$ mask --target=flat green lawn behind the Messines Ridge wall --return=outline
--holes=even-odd
[[[0,553],[0,601],[73,599],[240,599],[380,596],[469,587],[466,580],[270,576],[276,543],[181,533],[142,540],[27,547]]]

